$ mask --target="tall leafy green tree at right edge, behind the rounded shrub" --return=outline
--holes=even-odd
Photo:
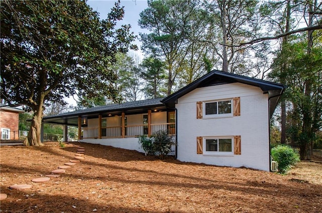
[[[285,62],[285,68],[280,70]],[[321,71],[322,46],[316,43],[308,52],[306,37],[302,36],[277,53],[270,74],[275,80],[283,79],[288,86],[284,97],[291,107],[286,132],[300,147],[301,159],[309,158],[316,131],[322,127]]]

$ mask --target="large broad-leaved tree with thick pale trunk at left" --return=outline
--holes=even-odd
[[[75,94],[113,99],[116,52],[133,41],[130,26],[115,29],[120,3],[100,21],[86,1],[2,1],[1,96],[33,111],[24,145],[41,146],[40,128],[48,101]]]

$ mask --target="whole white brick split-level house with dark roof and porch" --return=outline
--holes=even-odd
[[[88,126],[84,127],[97,128],[97,139],[82,141],[140,152],[136,133],[127,136],[131,128],[137,134],[150,134],[153,128],[168,129],[176,135],[176,157],[180,161],[270,171],[269,121],[283,91],[281,84],[213,70],[164,99],[108,105],[87,113],[78,110],[43,121],[59,123],[61,118],[78,116],[80,129],[87,116]],[[102,138],[99,120],[105,114],[105,122],[109,122],[108,116],[113,113],[120,115],[113,118],[117,123],[105,127],[114,128],[117,135],[111,138],[105,132]],[[131,117],[135,125],[128,123]]]

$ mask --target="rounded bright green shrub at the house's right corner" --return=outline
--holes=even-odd
[[[299,155],[291,147],[285,145],[274,147],[271,154],[273,160],[278,163],[278,172],[282,174],[300,161]]]

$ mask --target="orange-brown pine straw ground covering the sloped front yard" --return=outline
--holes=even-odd
[[[85,147],[85,159],[44,183],[31,180],[74,158],[77,148],[1,147],[1,193],[8,195],[1,212],[322,212],[320,163],[300,163],[282,176],[75,144]],[[14,184],[32,188],[8,188]]]

